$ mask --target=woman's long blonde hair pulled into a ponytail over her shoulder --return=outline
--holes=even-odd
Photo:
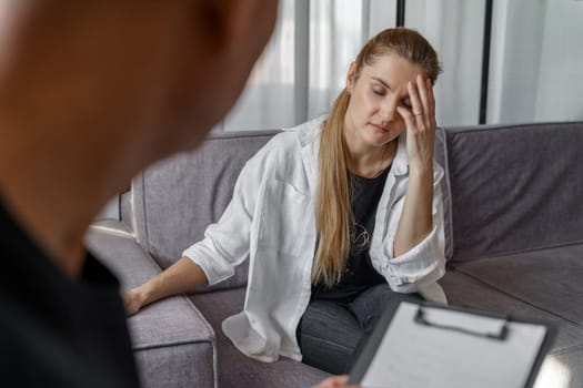
[[[354,78],[365,64],[384,54],[395,53],[412,64],[419,64],[434,84],[441,65],[431,44],[419,32],[406,28],[381,31],[361,49],[354,61]],[[350,95],[344,89],[334,101],[322,124],[319,152],[319,187],[316,193],[318,247],[312,282],[332,286],[344,270],[350,253],[352,207],[348,167],[350,155],[344,139],[344,115]]]

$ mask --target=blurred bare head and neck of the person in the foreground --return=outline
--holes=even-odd
[[[277,8],[1,0],[2,200],[73,268],[103,204],[148,164],[201,142],[233,105]]]

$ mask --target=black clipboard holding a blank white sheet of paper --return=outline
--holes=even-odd
[[[391,300],[349,384],[366,388],[531,388],[556,329],[474,308]]]

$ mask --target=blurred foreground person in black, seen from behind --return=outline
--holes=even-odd
[[[0,380],[137,387],[103,204],[234,103],[277,0],[0,0]]]

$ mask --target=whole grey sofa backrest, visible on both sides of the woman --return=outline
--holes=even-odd
[[[162,268],[200,241],[244,163],[279,131],[212,134],[132,181],[121,217]],[[439,129],[445,255],[452,261],[583,241],[583,122]],[[211,288],[243,285],[247,263]]]

